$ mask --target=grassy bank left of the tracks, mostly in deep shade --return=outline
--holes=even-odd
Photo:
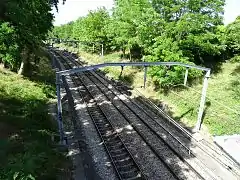
[[[34,77],[0,69],[0,179],[57,179],[66,161],[51,140],[57,131],[48,114],[54,74],[42,57]]]

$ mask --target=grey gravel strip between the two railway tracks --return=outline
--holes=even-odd
[[[108,101],[86,76],[82,75],[81,77],[91,94],[94,95],[96,102],[100,105],[101,109],[105,112],[108,119],[121,136],[128,150],[132,153],[144,175],[146,175],[149,180],[175,179],[112,103]]]

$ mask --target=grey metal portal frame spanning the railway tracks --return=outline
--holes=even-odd
[[[54,55],[54,58],[55,55]],[[85,72],[85,71],[91,71],[96,70],[104,67],[123,67],[125,66],[142,66],[144,67],[144,85],[143,87],[146,87],[146,80],[147,80],[147,68],[149,66],[183,66],[186,67],[185,76],[184,76],[184,85],[187,84],[187,78],[188,78],[188,71],[190,69],[198,69],[205,72],[204,81],[203,81],[203,88],[202,88],[202,95],[198,110],[198,117],[197,117],[197,123],[195,126],[195,130],[199,131],[202,124],[202,116],[204,112],[204,105],[206,100],[206,94],[207,94],[207,87],[208,87],[208,79],[210,78],[211,69],[205,68],[201,66],[193,66],[189,64],[184,64],[181,62],[125,62],[125,63],[103,63],[103,64],[97,64],[92,66],[84,66],[84,67],[78,67],[73,68],[69,70],[63,70],[63,71],[56,71],[56,85],[57,85],[57,99],[58,99],[58,125],[59,125],[59,132],[60,132],[60,139],[61,142],[63,142],[64,134],[63,134],[63,122],[62,122],[62,104],[61,104],[61,94],[60,94],[60,88],[61,88],[61,78],[62,76],[71,75],[74,73],[79,72]]]

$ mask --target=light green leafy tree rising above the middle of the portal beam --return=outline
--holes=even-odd
[[[145,43],[152,39],[150,34],[156,32],[154,28],[158,23],[153,23],[153,17],[158,21],[156,13],[147,0],[117,0],[108,32],[124,54],[125,50],[129,49],[130,57],[132,55],[139,57]],[[150,36],[147,35],[148,33]]]

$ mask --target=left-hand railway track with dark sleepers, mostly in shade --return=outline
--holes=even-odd
[[[71,68],[70,64],[66,61],[62,61],[61,59],[60,61],[65,67],[68,66]],[[126,148],[126,145],[118,133],[114,130],[106,114],[94,101],[92,93],[88,90],[77,74],[72,75],[71,77],[76,87],[81,87],[81,89],[78,90],[79,94],[87,104],[88,113],[105,146],[119,179],[145,180],[146,177],[143,175],[140,167],[134,161],[133,156]]]

